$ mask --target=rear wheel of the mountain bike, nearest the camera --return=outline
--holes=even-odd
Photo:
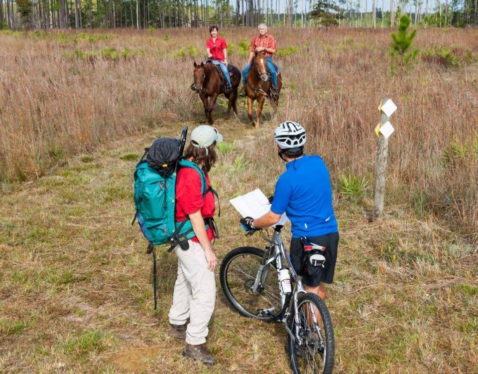
[[[289,335],[290,367],[294,374],[331,374],[334,368],[334,328],[324,301],[306,293],[297,301],[299,322],[291,315],[289,327],[299,339]]]

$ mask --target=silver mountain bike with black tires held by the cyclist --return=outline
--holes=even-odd
[[[281,229],[280,225],[274,228],[272,239],[261,231],[268,242],[264,250],[239,247],[229,252],[221,264],[221,287],[240,315],[284,323],[294,374],[332,373],[334,329],[330,313],[319,296],[304,290],[302,277],[294,270],[282,242]]]

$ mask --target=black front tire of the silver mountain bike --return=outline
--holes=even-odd
[[[262,257],[264,256],[264,251],[262,249],[256,247],[239,247],[235,248],[230,251],[223,259],[221,263],[221,268],[219,270],[219,280],[221,283],[221,288],[223,289],[224,296],[228,299],[231,307],[238,312],[241,316],[248,317],[248,318],[256,318],[264,322],[271,322],[272,319],[270,317],[262,317],[257,316],[256,314],[248,311],[245,307],[243,307],[239,301],[234,296],[234,293],[231,291],[228,281],[228,270],[231,262],[241,255],[251,255],[258,258],[259,263]],[[271,266],[271,265],[269,265]],[[271,267],[274,270],[275,268]],[[277,280],[277,291],[279,290],[279,281]]]

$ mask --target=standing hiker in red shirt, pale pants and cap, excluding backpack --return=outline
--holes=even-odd
[[[216,232],[210,222],[216,206],[208,173],[217,160],[216,142],[222,140],[218,130],[211,126],[201,125],[191,132],[185,158],[203,170],[208,188],[204,196],[197,170],[181,168],[176,178],[176,222],[189,217],[195,236],[188,240],[189,249],[180,246],[174,249],[178,256],[178,276],[169,310],[170,335],[186,340],[183,356],[206,365],[216,364],[205,345],[216,300],[217,265],[212,245]]]

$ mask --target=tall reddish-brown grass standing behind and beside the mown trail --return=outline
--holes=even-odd
[[[220,31],[231,44],[231,62],[242,66],[240,42],[248,43],[255,31]],[[285,87],[272,122],[301,122],[311,135],[309,152],[324,156],[336,181],[350,174],[370,186],[376,108],[382,98],[392,98],[398,110],[387,198],[435,212],[476,238],[478,30],[419,30],[416,44],[427,58],[394,74],[388,30],[271,33],[282,50],[276,61]],[[193,60],[204,58],[206,29],[101,35],[1,34],[0,179],[39,177],[65,154],[148,127],[202,121],[188,87]],[[451,63],[441,63],[452,58],[446,54],[430,57],[437,46],[452,53]],[[239,114],[238,126],[247,127],[245,112]]]

